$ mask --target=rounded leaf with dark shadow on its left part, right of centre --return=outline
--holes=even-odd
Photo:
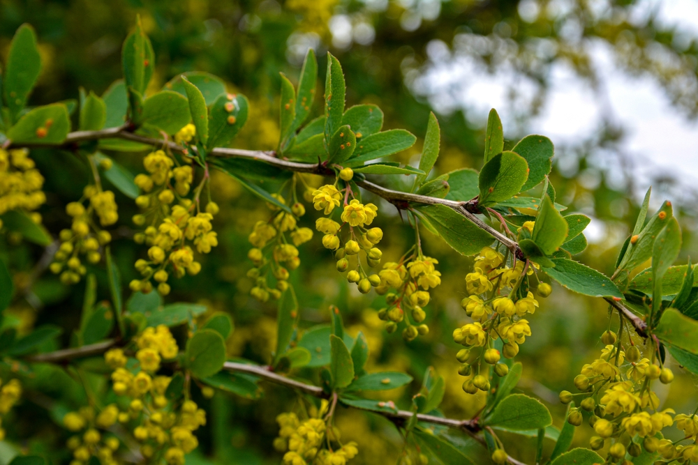
[[[480,171],[480,197],[477,204],[484,207],[511,199],[521,191],[526,178],[526,160],[514,152],[494,155]]]

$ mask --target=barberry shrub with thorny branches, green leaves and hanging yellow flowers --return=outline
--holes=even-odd
[[[11,415],[15,403],[22,402],[22,386],[28,387],[28,399],[50,409],[66,431],[68,452],[62,457],[70,464],[182,465],[198,447],[197,432],[207,422],[194,393],[198,399],[211,398],[217,390],[257,399],[265,383],[298,394],[292,411],[276,418],[279,434],[273,447],[288,465],[355,460],[362,444],[342,441],[334,423],[338,405],[391,420],[404,441],[401,464],[473,463],[462,441],[447,429],[475,439],[496,464],[523,463],[507,453],[501,432],[507,438],[537,437],[537,464],[698,462],[696,413],[662,409],[655,393],[674,379],[665,366],[669,354],[683,369],[698,373],[694,268],[690,261],[673,266],[681,230],[668,201],[650,215],[648,192],[608,277],[572,258],[587,245],[583,231],[590,219],[556,203],[548,178],[550,140],[530,135],[504,150],[494,110],[480,172],[463,168],[430,177],[439,155],[436,116],[429,118],[418,167],[385,161],[413,146],[416,137],[406,130],[382,130],[383,113],[375,105],[346,109],[341,65],[330,54],[324,112],[311,121],[319,88],[313,51],[297,86],[281,76],[281,137],[274,152],[230,148],[248,119],[248,100],[228,93],[221,79],[185,73],[153,91],[155,56],[140,22],[124,42],[122,59],[124,79],[105,96],[83,92],[78,105],[26,107],[40,56],[34,31],[24,25],[10,46],[1,81],[3,243],[24,240],[45,247],[35,273],[48,270],[66,286],[84,280],[86,292],[75,307],[78,323],[64,348],[55,345],[61,328],[28,329],[7,317],[3,321],[0,414]],[[42,188],[52,173],[36,168],[31,153],[36,147],[69,151],[91,174],[89,183],[80,186],[82,196],[61,207],[70,220],[59,231],[47,231],[37,212],[47,201]],[[142,160],[142,173],[133,176],[114,160],[127,157]],[[200,273],[207,254],[218,246],[216,217],[226,206],[212,199],[213,170],[268,206],[265,218],[249,224],[246,254],[247,276],[254,282],[251,296],[278,303],[276,349],[269,365],[229,359],[226,341],[234,326],[228,313],[211,314],[198,303],[162,305],[173,280]],[[394,174],[411,176],[411,188],[380,185],[380,176]],[[121,218],[105,180],[132,199],[139,213]],[[268,185],[279,188],[269,192]],[[389,206],[413,229],[412,244],[395,261],[383,260],[383,229],[376,226]],[[313,227],[304,225],[308,211],[318,212]],[[422,246],[424,231],[471,257],[472,268],[463,273],[465,323],[452,328],[450,336],[462,348],[450,357],[459,363],[459,395],[483,399],[473,418],[443,416],[445,381],[432,367],[402,409],[391,400],[371,398],[366,391],[399,388],[413,379],[405,372],[367,372],[366,337],[346,333],[341,308],[330,308],[329,326],[302,330],[307,325],[299,325],[304,297],[291,284],[294,270],[304,265],[298,247],[321,244],[336,260],[338,280],[379,296],[383,305],[376,317],[387,333],[397,331],[406,342],[427,335],[433,309],[426,308],[441,273],[438,260]],[[141,247],[133,263],[140,278],[127,285],[120,275],[133,270],[116,266],[115,236]],[[651,266],[637,273],[648,261]],[[26,288],[15,289],[12,270],[18,266],[0,261],[0,310],[30,298]],[[99,273],[107,276],[111,302],[96,303]],[[560,402],[568,405],[562,429],[551,426],[544,404],[512,393],[522,372],[519,348],[535,333],[530,315],[538,299],[551,294],[552,281],[600,299],[609,310],[600,355],[570,380],[574,392],[560,392]],[[615,331],[612,319],[619,321]],[[33,381],[45,364],[59,365],[84,383],[87,403],[69,408],[47,402],[38,390],[47,385]],[[584,422],[593,429],[588,448],[569,450],[574,428]],[[3,427],[0,436],[11,423],[3,421]],[[546,438],[554,448],[543,447]],[[21,444],[31,438],[13,439]],[[15,461],[38,464],[43,459],[20,454]]]

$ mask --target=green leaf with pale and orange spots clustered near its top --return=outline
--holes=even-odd
[[[230,111],[228,111],[230,110]],[[225,147],[235,138],[247,121],[247,98],[239,93],[220,96],[214,102],[209,114],[209,150]]]

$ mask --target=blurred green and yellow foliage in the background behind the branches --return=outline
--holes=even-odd
[[[156,54],[156,74],[151,91],[169,79],[189,70],[203,70],[225,79],[229,91],[242,92],[251,102],[251,116],[235,146],[273,149],[279,137],[279,72],[297,79],[302,58],[309,47],[320,57],[320,82],[324,82],[324,52],[329,50],[342,63],[348,86],[347,105],[371,102],[385,112],[387,128],[406,128],[424,137],[429,99],[419,96],[410,85],[426,72],[433,57],[429,49],[445,44],[453,54],[468,54],[496,71],[506,68],[535,82],[533,97],[516,105],[517,128],[505,128],[507,147],[525,135],[526,119],[540,112],[549,84],[549,70],[564,61],[579,77],[595,84],[595,70],[589,66],[589,47],[601,41],[614,52],[616,61],[630,73],[648,75],[662,86],[676,112],[692,117],[698,113],[698,42],[678,40],[678,32],[655,22],[649,15],[638,22],[632,16],[633,0],[0,0],[0,54],[6,56],[13,33],[29,22],[38,33],[43,59],[40,82],[31,104],[41,105],[78,98],[80,87],[103,93],[121,77],[121,43],[140,14]],[[519,102],[517,88],[510,98]],[[315,113],[320,112],[315,102]],[[484,130],[468,123],[463,110],[438,114],[442,128],[438,174],[452,169],[482,166]],[[623,133],[611,123],[602,125],[597,135],[577,146],[557,147],[557,158],[564,169],[554,165],[552,181],[558,202],[594,218],[593,226],[602,231],[599,239],[581,255],[581,261],[606,273],[612,270],[623,238],[637,215],[637,186],[632,169],[620,173],[595,165],[598,151],[623,157],[618,148]],[[555,142],[555,141],[554,141]],[[402,162],[414,162],[422,143],[401,153]],[[69,153],[32,151],[40,171],[47,178],[47,204],[41,213],[54,234],[68,226],[64,205],[80,197],[87,184],[87,167]],[[142,158],[114,154],[134,173],[142,171]],[[630,167],[632,163],[621,163]],[[384,176],[403,188],[401,176]],[[309,182],[318,185],[320,179]],[[684,247],[680,261],[695,250],[695,197],[672,198],[670,179],[653,180],[655,201],[664,197],[675,203],[682,220]],[[172,283],[168,301],[198,301],[210,311],[230,312],[235,333],[229,340],[229,355],[268,363],[274,350],[276,307],[260,304],[248,296],[253,283],[246,277],[251,266],[246,259],[246,236],[257,220],[267,220],[269,210],[243,192],[230,177],[216,175],[212,184],[214,201],[221,205],[216,217],[221,245],[204,261],[202,273]],[[274,186],[265,186],[273,190]],[[682,187],[683,189],[683,187]],[[685,188],[690,192],[690,188]],[[689,199],[688,201],[686,199]],[[683,200],[683,201],[681,201]],[[133,262],[145,249],[131,241],[128,218],[136,213],[133,201],[117,192],[121,224],[115,231],[114,250],[124,282],[135,275]],[[311,210],[302,222],[314,223]],[[403,227],[392,206],[380,204],[378,226],[385,231],[382,246],[385,261],[399,257],[413,241],[413,233]],[[64,328],[64,342],[80,319],[84,283],[64,287],[55,277],[37,275],[31,265],[43,250],[24,242],[4,238],[0,253],[10,260],[19,298],[8,314],[20,328],[54,323]],[[338,305],[351,335],[362,330],[371,349],[369,371],[405,369],[415,377],[414,386],[387,392],[383,398],[408,405],[408,399],[421,382],[429,365],[447,379],[443,404],[447,416],[469,418],[482,406],[482,399],[462,392],[450,333],[465,318],[459,306],[464,296],[464,277],[470,270],[468,259],[456,256],[440,239],[424,233],[426,254],[436,257],[442,284],[426,308],[431,333],[406,343],[399,333],[387,335],[376,310],[381,299],[375,294],[361,296],[334,270],[334,260],[317,240],[301,248],[302,266],[292,273],[302,308],[302,325],[329,321],[327,308]],[[101,298],[107,298],[106,275],[92,266],[98,277]],[[372,310],[373,309],[373,310]],[[595,358],[602,344],[600,334],[607,328],[607,305],[600,299],[572,295],[556,288],[539,311],[531,317],[533,337],[522,346],[519,359],[524,375],[519,388],[546,402],[556,415],[559,427],[564,406],[558,392],[570,389],[581,365]],[[6,323],[7,324],[7,323]],[[612,321],[615,329],[617,321]],[[678,373],[678,367],[675,372]],[[307,373],[300,373],[305,374]],[[93,380],[95,383],[98,381]],[[74,409],[84,404],[84,390],[59,368],[38,372],[34,386],[27,386],[24,402],[15,409],[8,441],[22,448],[45,453],[55,463],[68,462],[64,448],[66,432],[57,425],[59,406]],[[271,444],[278,431],[275,417],[292,409],[297,399],[284,388],[265,386],[262,402],[217,393],[211,400],[198,398],[209,412],[209,422],[200,434],[202,447],[188,464],[215,463],[272,464],[281,456]],[[50,395],[40,395],[39,388]],[[696,380],[677,376],[660,392],[665,406],[677,413],[695,407]],[[406,403],[407,402],[407,403]],[[357,464],[394,463],[401,450],[396,429],[384,418],[359,411],[339,412],[338,426],[343,439],[359,443]],[[591,429],[578,429],[576,444],[586,444]],[[29,439],[27,439],[29,438]],[[21,441],[20,441],[21,439]],[[507,451],[534,450],[535,439],[505,441]],[[464,447],[470,447],[463,439]],[[547,443],[551,447],[552,443]],[[477,447],[473,446],[477,457]],[[0,462],[5,462],[8,443],[0,443]],[[481,453],[481,452],[480,452]],[[206,457],[206,458],[205,458]],[[533,457],[523,455],[522,459]],[[476,459],[477,462],[477,459]],[[354,463],[354,462],[352,462]],[[480,463],[480,462],[479,462]]]

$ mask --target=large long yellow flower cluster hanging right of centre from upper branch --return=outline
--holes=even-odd
[[[475,257],[472,273],[466,275],[468,296],[461,300],[461,307],[473,322],[466,323],[453,331],[453,340],[465,346],[456,354],[462,364],[459,374],[466,376],[463,390],[475,394],[478,390],[489,390],[490,369],[498,376],[504,376],[509,369],[499,363],[501,356],[512,358],[519,353],[519,344],[526,342],[531,335],[526,315],[535,313],[538,301],[533,293],[521,292],[526,277],[534,273],[518,261],[515,266],[507,266],[507,258],[491,247],[484,247]],[[531,264],[533,266],[533,264]],[[540,296],[549,295],[547,284],[538,285]],[[526,288],[523,288],[526,289]],[[543,290],[543,291],[542,291]],[[493,347],[499,337],[503,339],[502,352]]]

